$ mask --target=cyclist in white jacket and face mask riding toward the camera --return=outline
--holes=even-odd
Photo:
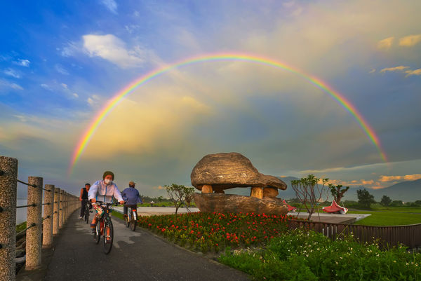
[[[96,203],[97,200],[100,200],[103,203],[112,203],[112,198],[114,197],[120,204],[124,204],[124,200],[121,197],[119,189],[112,181],[114,181],[114,173],[111,171],[105,171],[102,175],[102,181],[95,181],[95,184],[93,184],[91,189],[89,189],[88,199],[91,201],[92,207],[96,211],[91,223],[92,231],[95,231],[98,219],[104,215],[104,206]],[[107,230],[109,230],[109,228],[107,228]],[[107,235],[109,235],[109,233],[107,233]]]

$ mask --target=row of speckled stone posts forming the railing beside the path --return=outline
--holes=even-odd
[[[18,181],[28,186],[27,205],[16,206]],[[0,156],[0,280],[15,280],[16,235],[26,231],[25,270],[41,266],[41,247],[53,245],[70,214],[80,207],[79,197],[46,184],[42,177],[18,180],[18,159]],[[44,203],[42,203],[44,191]],[[41,210],[44,205],[44,217]],[[27,207],[27,228],[16,233],[16,208]]]

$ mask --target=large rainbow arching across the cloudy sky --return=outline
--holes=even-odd
[[[333,97],[333,100],[338,102],[338,104],[340,104],[341,107],[343,107],[346,111],[348,111],[354,117],[356,122],[363,129],[363,132],[366,133],[368,139],[370,139],[370,142],[372,142],[377,148],[377,151],[379,151],[380,157],[382,158],[382,160],[387,162],[385,151],[383,151],[380,145],[379,138],[377,137],[377,135],[375,135],[373,128],[371,128],[370,125],[368,125],[368,122],[364,120],[363,116],[361,116],[361,114],[356,110],[356,108],[351,104],[351,102],[349,102],[339,92],[336,92],[335,90],[333,90],[333,88],[327,85],[327,83],[321,81],[319,78],[306,74],[304,71],[301,71],[297,68],[290,67],[287,64],[284,64],[276,60],[272,60],[268,57],[261,57],[261,56],[249,55],[249,54],[239,54],[239,53],[220,53],[220,54],[212,54],[212,55],[200,55],[197,57],[189,57],[185,60],[181,60],[173,64],[159,67],[158,69],[154,69],[150,71],[148,74],[145,74],[141,76],[140,78],[138,78],[137,80],[133,81],[133,83],[128,85],[126,88],[123,88],[123,90],[121,90],[120,92],[117,92],[116,95],[114,95],[114,97],[112,97],[112,99],[109,100],[109,102],[107,102],[107,105],[98,112],[95,118],[93,118],[93,121],[91,122],[91,125],[89,125],[88,130],[86,130],[86,132],[83,134],[83,137],[79,140],[76,148],[74,149],[72,160],[69,164],[68,174],[72,173],[72,169],[74,165],[76,165],[83,151],[86,149],[86,146],[88,145],[89,141],[93,137],[95,130],[98,128],[100,123],[102,123],[105,117],[107,117],[107,114],[109,114],[109,112],[111,112],[112,109],[114,109],[114,107],[116,107],[116,105],[119,104],[119,102],[123,99],[123,97],[126,97],[126,95],[129,95],[131,92],[133,92],[133,90],[135,90],[135,88],[140,87],[140,85],[147,83],[148,81],[152,80],[153,78],[156,78],[157,76],[160,76],[161,74],[165,74],[166,72],[171,71],[171,69],[175,69],[178,67],[185,67],[190,64],[198,64],[201,62],[220,62],[220,61],[251,62],[255,64],[263,64],[269,67],[275,67],[277,69],[284,69],[293,74],[297,74],[298,76],[300,76],[301,78],[304,78],[309,83],[316,85],[316,87],[328,93],[330,97]]]

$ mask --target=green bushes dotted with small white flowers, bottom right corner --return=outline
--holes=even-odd
[[[421,254],[361,245],[352,236],[331,241],[314,231],[291,231],[264,249],[226,251],[219,260],[255,280],[421,280]]]

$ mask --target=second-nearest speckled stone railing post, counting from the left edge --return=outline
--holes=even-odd
[[[41,231],[42,231],[42,177],[28,177],[27,226],[35,224],[27,230],[25,270],[33,270],[41,266]]]

